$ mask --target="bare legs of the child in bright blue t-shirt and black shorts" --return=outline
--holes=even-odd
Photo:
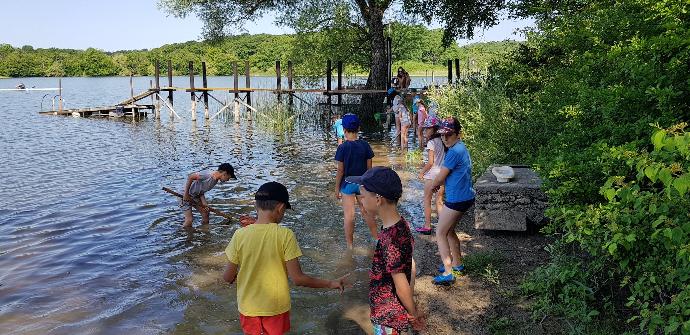
[[[450,274],[452,267],[458,266],[462,262],[460,239],[455,234],[455,226],[460,221],[462,215],[463,212],[452,210],[446,206],[443,207],[439,215],[438,227],[436,228],[436,243],[438,243],[438,252],[445,267],[443,275]]]

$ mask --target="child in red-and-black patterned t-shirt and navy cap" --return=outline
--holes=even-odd
[[[400,177],[390,168],[377,166],[361,177],[348,177],[347,181],[360,185],[362,205],[383,222],[369,272],[374,334],[407,334],[410,326],[421,330],[424,320],[415,306],[411,284],[414,239],[397,209],[402,195]]]

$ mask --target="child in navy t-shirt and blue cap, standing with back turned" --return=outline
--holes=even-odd
[[[355,202],[359,203],[359,186],[348,183],[345,178],[361,176],[371,169],[371,159],[374,151],[364,140],[359,139],[359,118],[354,114],[343,115],[343,128],[345,129],[345,142],[338,146],[335,152],[335,160],[338,171],[335,176],[335,196],[342,199],[345,243],[352,248],[355,231]],[[361,207],[364,222],[369,226],[372,239],[377,238],[377,227],[374,216]]]

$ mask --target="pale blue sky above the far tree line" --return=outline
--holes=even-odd
[[[477,31],[472,41],[523,40],[514,31],[531,21],[503,21]],[[164,44],[199,40],[203,24],[194,16],[168,15],[157,0],[24,0],[3,1],[0,11],[0,44],[14,47],[104,50],[152,49]],[[282,34],[292,31],[265,17],[245,25],[250,34]]]

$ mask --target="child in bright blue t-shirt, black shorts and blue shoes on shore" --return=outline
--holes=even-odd
[[[448,151],[443,166],[432,184],[433,189],[446,186],[446,202],[439,214],[436,228],[436,242],[443,264],[439,267],[440,275],[434,277],[436,285],[450,285],[455,282],[455,274],[465,267],[460,254],[460,239],[455,234],[455,226],[462,215],[474,204],[472,188],[472,160],[460,132],[462,127],[456,118],[447,118],[441,122],[443,144]]]

